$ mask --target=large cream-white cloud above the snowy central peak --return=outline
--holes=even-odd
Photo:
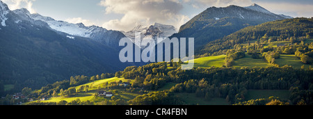
[[[106,29],[129,31],[136,24],[150,25],[154,22],[181,26],[189,19],[179,13],[182,3],[177,0],[102,0],[106,14],[122,14],[121,19],[112,19],[102,26]],[[184,22],[182,22],[184,21]]]

